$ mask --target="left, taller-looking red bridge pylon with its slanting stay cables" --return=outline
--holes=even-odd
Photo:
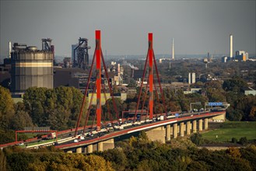
[[[85,107],[86,96],[87,96],[88,89],[89,89],[90,79],[91,79],[92,73],[93,73],[93,66],[94,66],[95,58],[96,58],[96,84],[94,86],[93,93],[94,93],[95,88],[96,88],[96,127],[97,127],[97,130],[100,130],[101,121],[102,121],[101,120],[101,114],[102,114],[102,110],[101,110],[101,92],[102,92],[102,89],[101,89],[101,86],[102,86],[101,85],[101,61],[103,63],[104,73],[107,77],[107,84],[108,84],[108,87],[109,87],[109,90],[110,90],[110,96],[112,98],[112,103],[113,103],[113,106],[114,106],[116,117],[117,117],[117,119],[119,119],[119,113],[117,112],[117,106],[116,106],[116,103],[114,101],[114,96],[113,96],[113,91],[112,91],[112,87],[111,87],[111,84],[110,84],[110,79],[109,79],[108,74],[107,74],[107,67],[105,65],[105,61],[104,61],[104,58],[103,58],[103,53],[102,53],[102,50],[101,50],[100,30],[95,31],[95,39],[96,39],[96,47],[95,47],[95,51],[94,51],[94,54],[93,54],[92,65],[91,65],[90,70],[89,70],[89,77],[88,77],[88,80],[87,80],[86,92],[85,92],[85,94],[83,96],[83,99],[82,99],[82,106],[80,108],[79,118],[77,120],[76,127],[75,127],[75,136],[78,133],[79,124],[80,124],[82,113],[83,113],[83,110],[84,110],[84,107]],[[106,92],[105,89],[103,89],[103,92],[104,93]],[[105,97],[105,100],[107,101],[106,95],[104,97]],[[87,124],[87,121],[89,119],[89,113],[90,113],[90,110],[91,110],[92,101],[93,101],[93,95],[91,96],[91,99],[90,99],[90,102],[89,102],[89,107],[88,107],[87,112],[86,112],[86,122],[85,122],[85,125],[84,125],[83,133],[85,132],[86,124]],[[108,109],[108,111],[110,111],[110,110]],[[110,121],[112,122],[111,113],[110,112],[108,112],[108,113],[110,114]],[[93,120],[93,123],[94,123],[94,120]]]

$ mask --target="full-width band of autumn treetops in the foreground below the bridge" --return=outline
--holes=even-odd
[[[63,153],[54,146],[0,151],[2,170],[255,170],[256,146],[209,151],[150,141],[145,132],[93,154]]]

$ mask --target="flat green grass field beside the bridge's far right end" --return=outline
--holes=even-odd
[[[232,138],[239,140],[241,137],[256,139],[256,122],[225,122],[218,129],[202,133],[202,138],[219,142],[231,141]]]

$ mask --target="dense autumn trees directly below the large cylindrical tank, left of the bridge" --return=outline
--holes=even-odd
[[[0,144],[14,141],[14,131],[24,127],[58,131],[75,127],[82,96],[74,87],[31,87],[26,89],[23,102],[14,103],[9,89],[0,86]]]

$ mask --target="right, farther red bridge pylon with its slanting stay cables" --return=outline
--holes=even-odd
[[[149,78],[147,79],[147,85],[146,85],[146,92],[144,93],[144,100],[142,103],[142,110],[144,110],[144,106],[145,106],[145,99],[146,99],[146,94],[148,92],[148,86],[149,86],[149,119],[152,120],[153,119],[153,106],[154,106],[154,93],[153,91],[156,90],[156,86],[154,84],[154,76],[153,76],[153,66],[155,67],[156,70],[156,77],[157,77],[157,82],[159,83],[159,88],[160,88],[160,93],[162,95],[162,101],[163,101],[163,106],[164,106],[164,110],[165,113],[167,113],[167,106],[165,105],[165,99],[164,99],[164,95],[163,95],[163,89],[160,83],[160,77],[159,77],[159,72],[157,69],[157,65],[156,65],[156,58],[155,58],[155,54],[154,54],[154,50],[153,50],[153,33],[149,33],[149,49],[146,55],[146,62],[144,65],[144,71],[143,71],[143,75],[142,75],[142,82],[141,82],[141,86],[139,89],[139,98],[137,101],[137,106],[136,106],[136,110],[135,110],[135,117],[134,117],[134,121],[135,118],[137,117],[137,113],[138,113],[138,109],[139,109],[139,103],[140,103],[140,98],[142,96],[142,87],[143,87],[143,82],[145,79],[145,75],[146,75],[146,70],[147,70],[147,66],[149,66]],[[155,86],[155,87],[154,87]],[[155,88],[155,89],[154,89]],[[157,93],[157,91],[156,91]],[[158,95],[156,95],[156,98],[158,99]]]

